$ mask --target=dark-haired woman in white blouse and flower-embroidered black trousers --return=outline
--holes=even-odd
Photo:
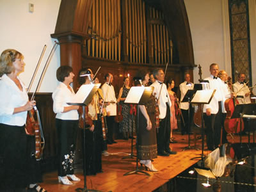
[[[78,127],[79,106],[70,106],[75,93],[69,85],[73,82],[74,74],[72,67],[61,66],[57,69],[56,77],[60,81],[59,86],[52,93],[53,111],[56,113],[56,129],[58,134],[58,180],[62,184],[73,184],[68,177],[74,181],[80,179],[74,175],[74,156],[76,150],[76,134]]]

